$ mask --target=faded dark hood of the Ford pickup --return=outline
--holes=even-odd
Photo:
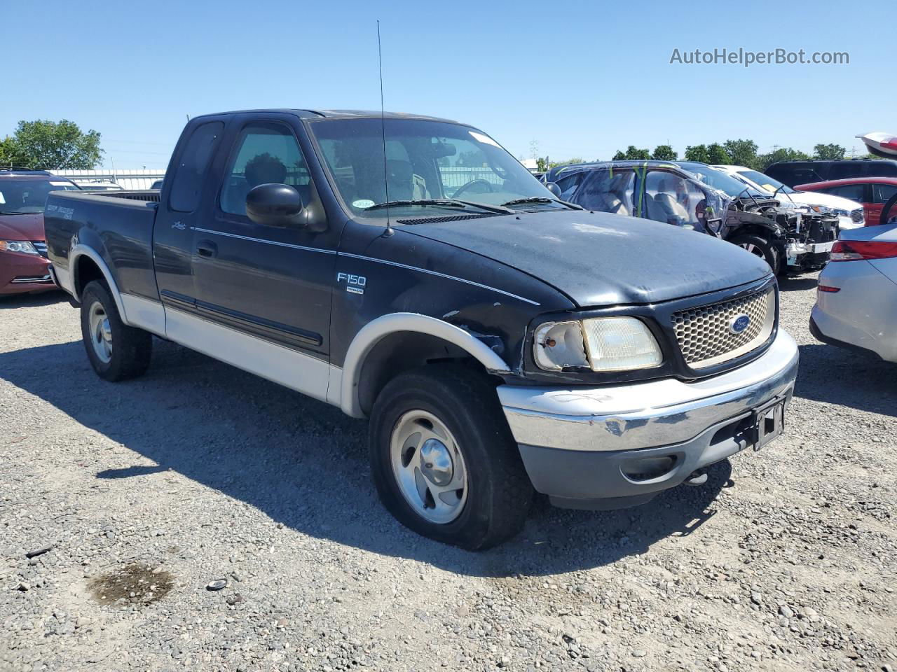
[[[520,212],[401,229],[523,271],[579,307],[691,297],[771,272],[753,254],[718,238],[606,212]]]

